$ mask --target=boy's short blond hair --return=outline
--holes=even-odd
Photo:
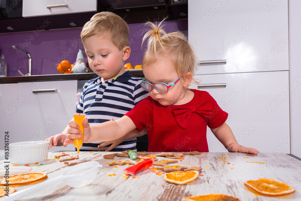
[[[114,13],[104,11],[93,15],[82,28],[80,37],[84,42],[87,37],[95,34],[109,37],[119,50],[129,46],[129,27],[121,17]]]

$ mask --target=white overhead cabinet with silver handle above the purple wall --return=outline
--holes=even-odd
[[[23,17],[97,11],[96,0],[23,0]]]

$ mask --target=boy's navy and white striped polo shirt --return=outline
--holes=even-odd
[[[89,80],[82,88],[82,94],[76,112],[85,113],[90,125],[119,119],[130,111],[149,93],[140,86],[142,79],[133,77],[126,71],[113,80],[101,82],[100,77]],[[136,150],[136,138],[131,138],[117,145],[112,151]],[[104,151],[109,146],[98,148],[102,142],[83,143],[80,151]]]

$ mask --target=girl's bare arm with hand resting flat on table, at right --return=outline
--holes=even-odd
[[[220,127],[211,129],[211,131],[229,152],[238,151],[251,154],[259,153],[257,149],[247,148],[238,144],[231,128],[228,126],[228,124],[226,124],[226,122]]]

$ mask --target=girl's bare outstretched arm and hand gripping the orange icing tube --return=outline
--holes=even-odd
[[[125,136],[130,131],[136,128],[133,121],[128,116],[123,116],[116,121],[107,121],[98,125],[90,126],[88,119],[84,118],[82,121],[84,127],[83,142],[105,142],[115,140]],[[69,122],[68,139],[65,143],[73,143],[73,139],[81,138],[81,131],[78,130],[79,125],[75,121]]]

